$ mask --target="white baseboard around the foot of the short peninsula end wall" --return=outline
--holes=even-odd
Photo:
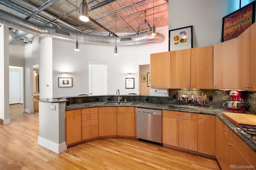
[[[38,136],[38,145],[43,146],[44,148],[47,148],[57,154],[60,154],[61,152],[67,150],[66,142],[63,142],[61,144],[56,144],[55,142],[52,142],[40,136]]]

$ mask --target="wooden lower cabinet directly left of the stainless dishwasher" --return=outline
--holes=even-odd
[[[135,137],[134,107],[117,107],[117,135]]]

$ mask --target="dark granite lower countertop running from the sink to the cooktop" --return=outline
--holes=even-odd
[[[79,109],[79,108],[90,108],[90,107],[108,107],[113,105],[106,105],[106,102],[88,102],[80,104],[70,104],[66,106],[66,110]],[[114,105],[116,106],[116,105]],[[120,106],[120,105],[118,105]],[[124,106],[124,105],[122,105]],[[226,117],[222,116],[222,112],[227,112],[225,108],[212,108],[206,106],[189,106],[189,105],[178,105],[178,104],[154,104],[154,103],[145,103],[145,102],[132,102],[131,105],[126,105],[130,107],[138,108],[148,108],[148,109],[157,109],[157,110],[172,110],[179,112],[190,112],[198,114],[210,114],[216,115],[222,122],[224,122],[237,136],[239,136],[254,152],[256,152],[256,144],[254,144],[246,136],[241,135],[237,132],[236,124],[228,120]],[[124,106],[124,107],[126,107]],[[239,113],[237,113],[239,114]],[[250,114],[250,112],[244,112],[243,114]]]

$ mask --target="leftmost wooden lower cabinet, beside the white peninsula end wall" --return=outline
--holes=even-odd
[[[66,144],[71,146],[81,142],[81,109],[66,111]]]

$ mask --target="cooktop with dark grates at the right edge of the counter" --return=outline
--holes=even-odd
[[[241,134],[250,139],[256,144],[256,127],[254,126],[238,126],[236,130]]]

